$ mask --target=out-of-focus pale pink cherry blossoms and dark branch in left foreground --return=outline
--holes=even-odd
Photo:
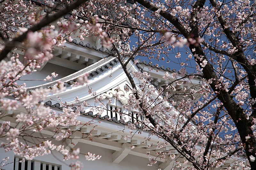
[[[65,90],[63,82],[57,82],[52,89],[40,89],[29,94],[26,84],[19,85],[17,80],[26,74],[36,71],[44,62],[52,58],[52,47],[62,46],[69,33],[79,29],[79,25],[68,20],[60,20],[54,26],[51,23],[72,12],[86,1],[75,2],[65,1],[53,6],[38,4],[31,1],[1,1],[1,47],[0,47],[0,106],[1,126],[0,137],[6,142],[1,143],[5,152],[13,151],[14,154],[31,160],[37,156],[58,151],[63,155],[63,160],[78,159],[79,149],[67,148],[65,145],[56,145],[52,141],[71,140],[70,129],[61,127],[87,126],[92,122],[82,123],[77,120],[81,115],[82,107],[74,110],[72,107],[65,107],[61,116],[51,108],[44,106],[46,96],[51,93],[59,93]],[[89,4],[86,4],[90,6]],[[88,7],[89,8],[89,7]],[[44,10],[46,12],[44,12]],[[57,11],[57,12],[53,12]],[[72,17],[72,16],[71,16]],[[58,26],[58,31],[56,27]],[[99,33],[99,35],[103,32]],[[104,34],[103,34],[104,35]],[[105,38],[107,40],[107,38]],[[24,56],[12,50],[20,49]],[[45,78],[51,81],[57,77],[56,73]],[[87,74],[78,78],[76,85],[83,85],[87,82]],[[23,109],[18,112],[16,123],[6,121],[8,111]],[[43,130],[52,129],[52,135],[44,136]],[[54,140],[53,140],[54,139]],[[92,153],[84,154],[86,160],[100,159],[101,156]],[[7,158],[1,163],[1,168]],[[77,161],[70,164],[71,169],[81,169],[82,163]]]

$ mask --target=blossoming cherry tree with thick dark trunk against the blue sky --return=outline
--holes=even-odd
[[[113,49],[134,92],[129,107],[147,118],[142,122],[145,127],[175,147],[196,169],[220,166],[229,158],[237,159],[240,166],[247,167],[249,163],[256,167],[255,3],[200,0],[135,0],[128,4],[120,1],[115,6],[113,3],[95,3],[95,10],[101,10],[98,17],[104,19],[98,19],[98,23],[115,40]],[[110,15],[113,10],[115,14]],[[86,13],[80,17],[90,20]],[[135,39],[136,43],[132,43]],[[179,63],[178,73],[166,73],[163,78],[183,79],[166,84],[158,90],[158,98],[152,97],[153,87],[148,84],[152,78],[127,68],[137,55]],[[136,85],[134,77],[142,78],[141,84]],[[182,89],[179,95],[183,98],[172,93],[176,90],[175,82],[186,85],[191,78],[201,78],[201,86]],[[196,94],[201,95],[198,101],[193,97]],[[185,100],[190,95],[191,99]],[[178,115],[167,114],[170,107],[163,104],[167,101]],[[191,121],[196,123],[195,129]],[[196,149],[198,145],[200,149]],[[239,159],[243,157],[247,160]]]

